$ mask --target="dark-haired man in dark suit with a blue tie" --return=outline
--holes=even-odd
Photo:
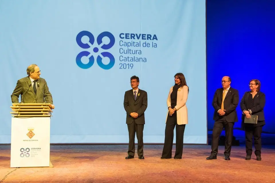
[[[139,159],[143,156],[143,128],[145,124],[144,112],[147,108],[147,92],[138,88],[140,79],[132,76],[132,89],[125,92],[124,109],[127,113],[126,124],[129,132],[128,156],[125,159],[132,159],[135,155],[135,133],[137,134],[137,155]]]

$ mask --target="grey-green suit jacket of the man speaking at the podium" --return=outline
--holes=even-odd
[[[32,84],[30,77],[23,77],[22,79],[19,79],[17,81],[16,87],[13,90],[13,93],[11,94],[11,102],[12,103],[19,103],[18,98],[19,95],[24,94],[23,96],[23,103],[44,103],[44,94],[46,96],[46,103],[53,104],[52,102],[52,94],[49,92],[49,88],[47,85],[47,82],[43,78],[39,78],[37,80],[37,84],[39,83],[40,87],[36,87],[36,95],[34,94],[34,88],[32,85],[29,88],[29,85]],[[28,89],[29,88],[29,89]],[[41,90],[41,91],[40,91]],[[43,93],[44,94],[43,94]]]

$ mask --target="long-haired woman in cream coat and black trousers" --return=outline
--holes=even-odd
[[[176,126],[176,153],[174,159],[182,158],[183,134],[185,125],[188,124],[186,101],[189,88],[186,85],[185,77],[182,73],[176,73],[175,85],[170,88],[166,117],[165,140],[161,159],[172,158],[172,146],[174,128]]]

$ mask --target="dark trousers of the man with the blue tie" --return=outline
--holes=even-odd
[[[143,129],[144,124],[136,124],[135,122],[127,124],[129,132],[129,148],[128,155],[135,156],[135,133],[137,134],[137,155],[143,155]]]

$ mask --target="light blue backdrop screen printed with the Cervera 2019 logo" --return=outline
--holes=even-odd
[[[32,63],[56,107],[51,143],[127,143],[123,97],[132,75],[148,93],[144,142],[163,143],[177,72],[190,87],[184,143],[207,142],[204,0],[0,3],[0,143],[10,142],[10,95]]]

